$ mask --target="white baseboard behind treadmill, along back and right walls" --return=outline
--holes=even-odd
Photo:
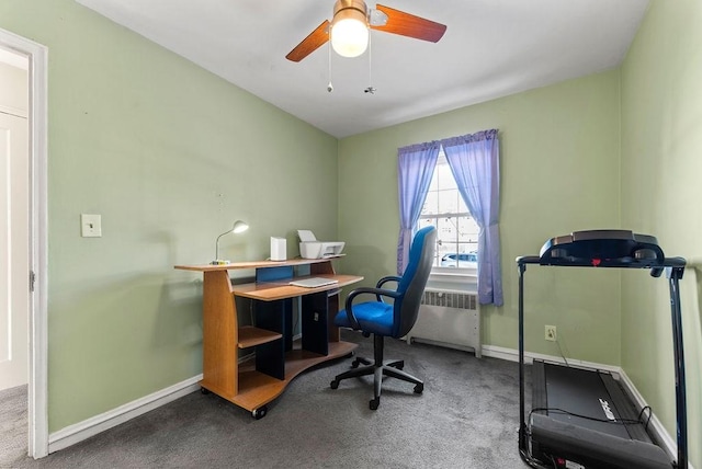
[[[491,358],[506,359],[509,362],[519,362],[519,351],[514,348],[505,348],[505,347],[498,347],[495,345],[483,345],[483,355]],[[531,364],[534,358],[543,359],[545,362],[555,362],[555,363],[565,364],[565,361],[559,356],[524,352],[524,363]],[[578,359],[568,359],[568,364],[582,367],[582,368],[600,369],[600,370],[609,371],[613,375],[616,375],[616,377],[623,385],[624,389],[636,401],[636,404],[638,405],[639,409],[643,409],[646,405],[648,405],[644,397],[641,394],[641,392],[638,392],[638,389],[636,389],[636,387],[634,386],[634,382],[629,378],[629,376],[626,376],[626,373],[624,373],[624,370],[621,367],[613,366],[613,365],[602,365],[602,364],[592,363],[592,362],[582,362]],[[671,459],[677,458],[678,443],[676,439],[673,439],[670,436],[666,427],[663,426],[663,423],[660,423],[660,421],[658,420],[655,413],[652,413],[649,425],[652,427],[652,433],[655,435],[658,442],[661,443],[663,448],[668,454],[668,456],[670,456]],[[688,462],[688,469],[694,469],[692,467],[692,464]]]

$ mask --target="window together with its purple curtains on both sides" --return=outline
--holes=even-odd
[[[435,225],[439,245],[432,279],[438,284],[464,284],[469,277],[469,282],[477,281],[482,305],[503,305],[499,156],[496,128],[397,149],[398,275],[407,268],[415,230]],[[455,181],[450,176],[454,172]],[[458,193],[468,197],[467,206],[478,211],[471,214]]]

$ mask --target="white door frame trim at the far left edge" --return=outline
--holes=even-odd
[[[26,145],[27,152],[24,161],[26,182],[25,211],[26,236],[24,239],[10,240],[12,249],[10,259],[18,258],[14,253],[18,241],[23,243],[18,249],[24,251],[25,271],[24,279],[12,278],[13,287],[10,297],[25,297],[29,320],[26,322],[26,336],[29,346],[24,347],[27,354],[27,415],[29,415],[29,442],[27,453],[31,457],[41,458],[48,455],[48,417],[47,417],[47,49],[45,46],[27,38],[18,36],[4,30],[0,30],[0,49],[10,54],[9,57],[23,57],[27,62],[26,85],[29,105],[26,112],[26,136],[20,137]],[[13,106],[14,107],[14,106]],[[4,110],[7,111],[7,110]],[[4,113],[9,114],[9,113]],[[3,124],[4,125],[4,124]],[[7,123],[8,128],[10,126]],[[13,124],[14,125],[14,124]],[[19,128],[19,127],[18,127]],[[10,133],[12,140],[21,136],[20,129],[5,130],[5,137]],[[19,147],[18,147],[19,148]],[[22,149],[12,149],[18,155]],[[8,165],[5,164],[5,168]],[[15,175],[4,175],[14,180]],[[7,217],[7,211],[2,215]],[[19,221],[18,224],[24,224]],[[5,225],[11,225],[5,221]],[[5,230],[7,231],[7,230]],[[12,236],[12,231],[10,231]],[[2,243],[0,243],[2,244]],[[8,249],[0,245],[0,249]],[[1,281],[1,279],[0,279]],[[18,293],[14,293],[14,287]],[[2,296],[0,295],[0,298]],[[2,301],[2,299],[0,299]],[[21,334],[21,332],[20,332]],[[11,355],[16,355],[12,352]]]

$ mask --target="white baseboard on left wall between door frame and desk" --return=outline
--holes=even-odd
[[[48,453],[67,448],[105,430],[200,389],[202,374],[48,435]]]

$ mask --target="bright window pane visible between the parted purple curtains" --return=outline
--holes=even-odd
[[[471,274],[477,270],[479,228],[458,193],[443,150],[417,228],[437,227],[437,254],[433,272]]]

